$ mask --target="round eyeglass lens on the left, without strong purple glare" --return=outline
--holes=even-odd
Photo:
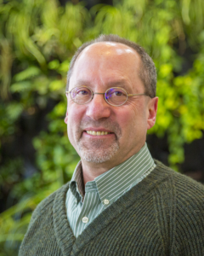
[[[87,87],[75,87],[71,90],[71,99],[77,104],[86,104],[92,99],[92,91]]]

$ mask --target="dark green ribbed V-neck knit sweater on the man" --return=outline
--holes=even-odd
[[[158,161],[77,238],[66,216],[68,188],[33,212],[20,256],[204,255],[204,187]]]

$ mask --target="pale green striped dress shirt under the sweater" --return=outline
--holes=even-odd
[[[156,167],[144,147],[121,165],[83,184],[82,163],[78,163],[66,194],[66,214],[74,236],[82,231],[114,201],[142,181]]]

